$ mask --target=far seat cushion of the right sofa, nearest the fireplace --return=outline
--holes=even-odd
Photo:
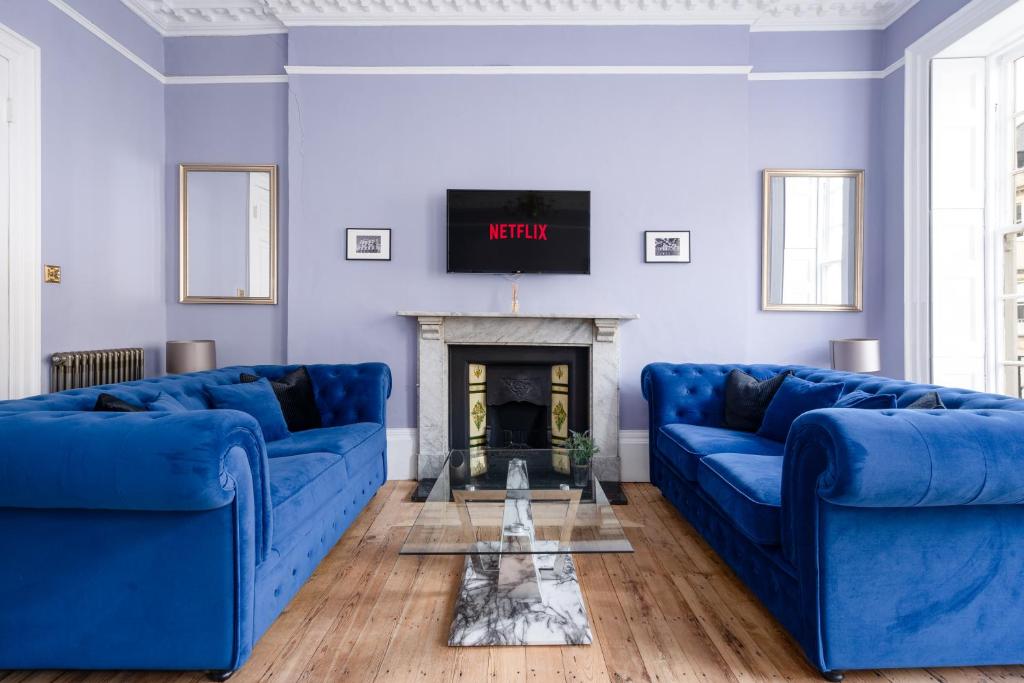
[[[657,436],[657,450],[690,481],[697,480],[697,464],[705,456],[714,453],[781,456],[783,447],[749,432],[699,425],[666,425]]]

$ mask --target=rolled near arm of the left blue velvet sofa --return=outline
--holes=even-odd
[[[248,477],[232,475],[233,450],[251,470],[261,557],[270,545],[266,447],[238,411],[0,413],[0,507],[212,510],[246,495],[236,490]]]

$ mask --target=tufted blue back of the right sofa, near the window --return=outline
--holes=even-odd
[[[844,394],[858,389],[867,393],[892,393],[896,394],[899,408],[909,405],[929,391],[937,391],[942,402],[950,409],[1024,411],[1024,400],[1011,396],[806,366],[654,362],[644,368],[640,376],[643,395],[648,402],[652,437],[653,432],[667,424],[721,426],[725,378],[734,369],[758,379],[792,370],[794,375],[810,382],[844,382]]]

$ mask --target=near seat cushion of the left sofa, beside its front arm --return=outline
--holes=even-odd
[[[336,453],[307,453],[270,461],[273,546],[290,545],[307,519],[348,483],[345,459]]]

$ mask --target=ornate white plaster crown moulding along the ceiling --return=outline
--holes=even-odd
[[[121,0],[164,36],[291,27],[744,25],[752,31],[882,30],[919,0]]]

